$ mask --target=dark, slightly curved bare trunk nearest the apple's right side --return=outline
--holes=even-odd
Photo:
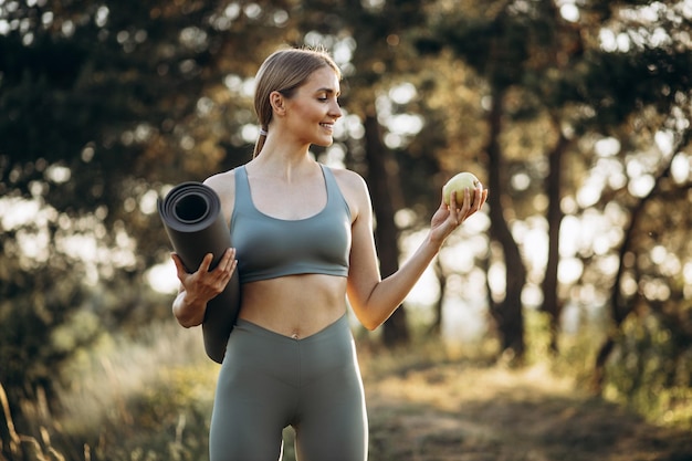
[[[499,142],[502,132],[503,95],[503,91],[497,87],[494,88],[489,114],[490,134],[486,153],[490,237],[500,243],[504,253],[506,291],[504,298],[499,302],[495,302],[491,296],[490,311],[501,336],[502,353],[508,353],[513,360],[521,362],[525,352],[522,291],[526,283],[526,268],[503,212],[503,200],[508,199],[502,187],[506,181],[502,178],[505,171]]]

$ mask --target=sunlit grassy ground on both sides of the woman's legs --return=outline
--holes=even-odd
[[[648,422],[585,390],[590,353],[574,353],[584,345],[570,345],[580,360],[572,368],[541,358],[536,344],[514,368],[492,360],[492,342],[395,350],[358,343],[370,461],[692,460],[689,429]],[[11,434],[0,461],[203,461],[218,370],[201,332],[172,322],[136,343],[102,344],[65,370],[60,415],[23,402],[29,423],[15,428],[0,392]],[[292,431],[284,434],[284,461],[293,461]]]

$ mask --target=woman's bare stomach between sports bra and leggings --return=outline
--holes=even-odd
[[[239,317],[284,336],[305,338],[346,312],[346,277],[301,274],[245,283]]]

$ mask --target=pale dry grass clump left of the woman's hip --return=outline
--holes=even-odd
[[[166,384],[188,386],[180,370],[195,376],[195,389],[186,389],[211,401],[216,364],[206,358],[201,331],[185,329],[169,322],[154,324],[137,342],[112,338],[97,350],[74,363],[65,373],[75,377],[60,394],[64,413],[61,425],[81,432],[106,422],[133,423],[132,401],[137,396],[169,390]],[[162,387],[164,386],[164,387]],[[207,392],[202,388],[208,388]]]

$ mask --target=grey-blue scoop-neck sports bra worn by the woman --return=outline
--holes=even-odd
[[[272,218],[254,208],[245,167],[235,169],[230,230],[240,283],[307,273],[348,275],[350,209],[332,170],[321,167],[327,205],[297,220]]]

